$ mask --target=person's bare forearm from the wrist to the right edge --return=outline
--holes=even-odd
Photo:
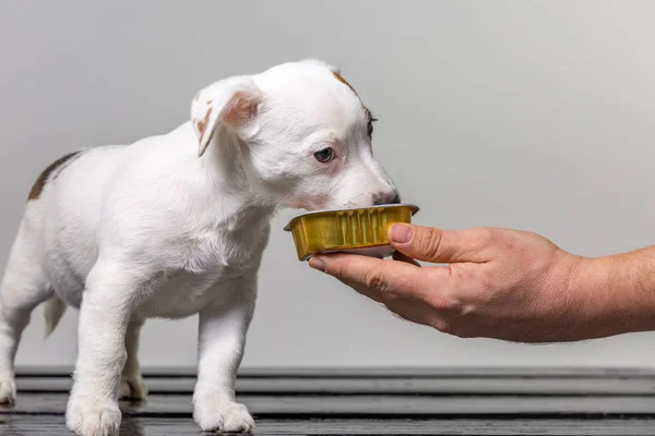
[[[590,338],[655,330],[655,246],[584,258],[571,282]]]

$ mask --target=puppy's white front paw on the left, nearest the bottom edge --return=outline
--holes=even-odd
[[[118,436],[121,420],[118,404],[72,399],[66,411],[66,426],[80,436]]]

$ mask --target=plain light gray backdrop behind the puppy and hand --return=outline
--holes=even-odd
[[[417,222],[540,232],[598,256],[655,241],[655,3],[1,1],[0,263],[38,172],[184,122],[195,90],[321,58],[380,118],[376,154]],[[295,258],[273,223],[247,366],[655,365],[653,336],[564,346],[409,325]],[[70,365],[76,313],[19,364]],[[195,318],[150,322],[142,363],[192,365]]]

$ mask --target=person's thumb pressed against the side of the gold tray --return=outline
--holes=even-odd
[[[395,250],[418,261],[438,264],[487,261],[480,256],[485,239],[474,230],[395,223],[389,229],[389,240]]]

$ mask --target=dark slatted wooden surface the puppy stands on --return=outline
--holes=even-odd
[[[121,435],[200,435],[192,373],[148,372]],[[0,435],[68,435],[66,372],[17,379]],[[655,372],[638,370],[242,371],[259,435],[655,435]]]

